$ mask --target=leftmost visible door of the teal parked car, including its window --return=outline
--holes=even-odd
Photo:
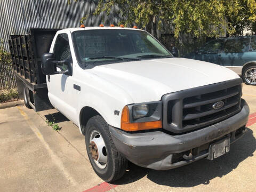
[[[198,52],[198,60],[220,65],[220,50],[222,44],[222,39],[216,39],[205,44]]]

